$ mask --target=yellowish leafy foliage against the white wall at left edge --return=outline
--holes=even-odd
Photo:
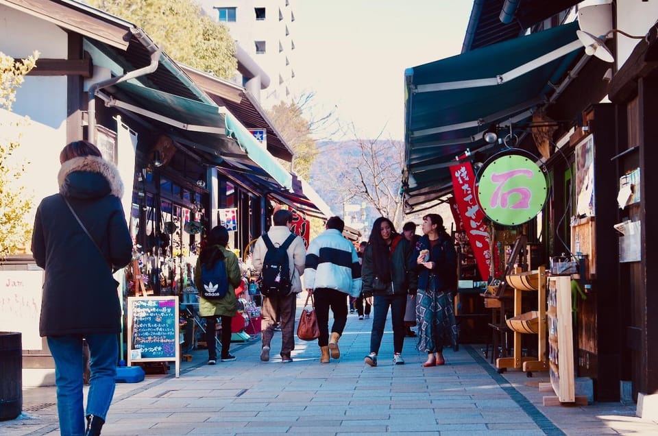
[[[21,146],[20,134],[14,134],[21,123],[7,121],[3,115],[12,110],[16,88],[34,68],[38,56],[35,51],[32,56],[16,61],[0,51],[0,259],[25,249],[30,239],[32,226],[27,215],[32,210],[32,196],[20,184],[25,164],[16,162],[13,156]]]

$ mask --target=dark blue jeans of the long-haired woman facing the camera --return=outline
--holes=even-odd
[[[404,346],[404,308],[406,308],[406,293],[393,295],[374,295],[372,299],[373,319],[370,333],[370,352],[379,353],[379,346],[384,336],[386,315],[391,307],[391,324],[393,324],[393,352],[402,353]]]

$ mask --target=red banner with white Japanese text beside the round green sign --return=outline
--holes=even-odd
[[[475,195],[475,173],[471,162],[460,162],[450,167],[454,199],[463,228],[473,249],[482,280],[489,280],[491,268],[491,241],[485,223],[485,213],[480,209]],[[455,220],[456,221],[456,220]]]

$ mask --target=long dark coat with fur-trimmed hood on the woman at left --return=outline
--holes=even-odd
[[[73,158],[62,165],[58,183],[60,193],[39,204],[32,234],[32,254],[45,269],[40,335],[119,332],[121,304],[110,263],[121,268],[132,258],[132,239],[119,199],[119,171],[94,156]]]

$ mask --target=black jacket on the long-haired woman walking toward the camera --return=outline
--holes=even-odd
[[[393,282],[393,291],[391,287],[380,291],[374,289],[375,274],[373,270],[372,260],[372,245],[365,247],[363,252],[363,265],[361,265],[361,280],[363,280],[363,296],[370,297],[371,295],[391,295],[391,294],[406,294],[409,291],[416,290],[417,277],[415,274],[414,264],[415,258],[413,257],[413,247],[409,241],[400,237],[398,245],[391,254],[391,279]]]

